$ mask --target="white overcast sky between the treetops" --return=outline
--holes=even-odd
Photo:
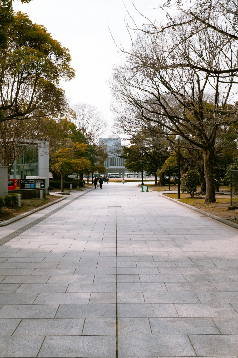
[[[162,0],[133,0],[133,3],[143,15],[152,20],[157,17],[158,20],[160,14],[155,8]],[[95,105],[109,125],[112,124],[113,113],[110,111],[112,98],[107,80],[111,77],[113,65],[121,60],[108,26],[115,40],[129,48],[130,38],[124,21],[125,16],[128,20],[130,18],[125,6],[139,26],[145,22],[130,0],[33,0],[29,4],[13,3],[15,11],[30,15],[34,23],[44,25],[53,38],[70,50],[76,77],[71,82],[62,83],[70,102]]]

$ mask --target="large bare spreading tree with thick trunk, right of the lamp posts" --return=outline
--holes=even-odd
[[[176,26],[164,26],[160,32],[147,26],[130,51],[121,49],[125,63],[114,69],[111,89],[118,118],[135,124],[140,112],[164,134],[179,134],[202,152],[205,201],[214,202],[218,133],[222,138],[227,126],[238,120],[238,42],[208,26],[191,30],[187,16],[176,15]],[[213,17],[213,22],[220,21],[215,13]]]

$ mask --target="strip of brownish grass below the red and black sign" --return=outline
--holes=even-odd
[[[0,221],[5,221],[21,214],[24,214],[30,210],[39,208],[42,205],[51,203],[61,196],[57,195],[45,195],[45,199],[40,200],[40,198],[31,198],[31,199],[21,199],[21,207],[18,206],[14,208],[3,207],[0,211]]]

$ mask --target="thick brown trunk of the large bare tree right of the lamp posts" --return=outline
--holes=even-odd
[[[214,203],[216,201],[215,185],[213,177],[214,148],[203,149],[204,175],[206,181],[205,203]]]

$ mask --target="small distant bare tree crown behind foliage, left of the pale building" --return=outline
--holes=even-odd
[[[102,113],[97,111],[96,106],[87,103],[76,103],[73,110],[75,113],[73,121],[87,138],[88,144],[96,143],[98,137],[101,137],[107,129],[107,122]]]

